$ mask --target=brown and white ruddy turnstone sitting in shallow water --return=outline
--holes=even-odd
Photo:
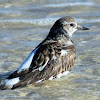
[[[88,28],[77,25],[70,16],[58,19],[47,37],[1,84],[0,89],[15,89],[67,75],[75,62],[76,50],[71,37],[77,30]]]

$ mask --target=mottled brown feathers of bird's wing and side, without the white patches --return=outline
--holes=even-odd
[[[61,56],[62,49],[67,50],[68,54],[65,56]],[[38,53],[35,55],[30,69],[28,71],[25,71],[27,72],[27,74],[24,74],[25,72],[21,72],[19,74],[21,81],[15,84],[12,89],[35,83],[41,79],[43,79],[44,81],[49,79],[51,76],[54,76],[54,78],[56,78],[59,73],[63,73],[67,70],[70,71],[75,62],[76,52],[74,44],[63,47],[62,42],[52,43],[51,41],[41,45],[41,48],[38,49],[37,52]],[[57,59],[54,60],[54,56],[56,56]],[[46,58],[49,59],[47,65],[42,71],[39,71],[38,68],[46,62]],[[16,74],[14,74],[14,77],[16,77]]]

